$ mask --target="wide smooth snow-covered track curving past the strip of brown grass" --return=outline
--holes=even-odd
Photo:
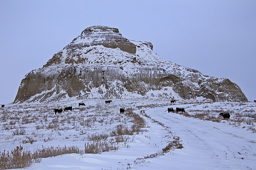
[[[212,169],[255,169],[256,142],[241,136],[243,133],[235,134],[235,131],[245,130],[167,113],[164,107],[147,109],[146,112],[181,138],[184,143],[182,152],[187,152],[189,159],[195,159],[195,163],[196,159],[201,159],[201,163],[212,165]],[[176,154],[179,152],[175,151]]]

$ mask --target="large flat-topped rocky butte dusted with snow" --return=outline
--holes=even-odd
[[[247,101],[229,79],[164,61],[152,48],[151,42],[126,39],[117,28],[86,28],[43,68],[25,76],[15,102],[51,102],[69,97]]]

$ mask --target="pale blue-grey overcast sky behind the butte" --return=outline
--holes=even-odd
[[[255,0],[0,0],[0,104],[92,25],[150,41],[167,61],[229,78],[256,100],[255,9]]]

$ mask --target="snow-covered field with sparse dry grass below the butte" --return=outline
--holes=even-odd
[[[68,106],[73,111],[55,115],[54,108]],[[119,113],[121,107],[125,113]],[[186,112],[168,113],[168,107]],[[220,112],[230,112],[231,121],[218,116]],[[43,158],[28,169],[256,169],[256,103],[67,100],[10,104],[0,114],[1,152],[16,146],[29,151],[77,146],[84,151],[85,144],[96,141],[118,147],[101,154]],[[144,119],[143,126],[135,114]],[[133,132],[120,133],[124,129]]]

